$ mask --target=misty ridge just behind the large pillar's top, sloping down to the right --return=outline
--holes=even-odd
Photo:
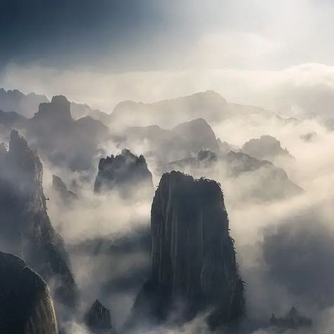
[[[280,199],[302,192],[302,188],[292,183],[282,168],[269,161],[254,159],[242,152],[216,154],[203,149],[197,156],[189,156],[161,166],[161,173],[173,170],[191,173],[199,178],[218,178],[221,182],[239,179],[239,191],[245,188],[248,199]],[[263,187],[264,184],[267,187]]]

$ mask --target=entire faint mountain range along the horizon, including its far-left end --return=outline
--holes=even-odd
[[[16,111],[30,118],[37,111],[39,104],[49,102],[44,95],[35,93],[23,94],[18,89],[0,89],[0,110]],[[76,120],[89,116],[100,120],[113,128],[133,126],[159,125],[161,128],[173,128],[179,123],[194,118],[204,118],[209,123],[234,117],[263,116],[278,120],[295,121],[294,118],[280,118],[275,113],[256,106],[234,104],[226,101],[214,91],[198,92],[186,97],[143,103],[136,101],[121,101],[112,113],[92,109],[88,104],[70,103],[71,116]]]

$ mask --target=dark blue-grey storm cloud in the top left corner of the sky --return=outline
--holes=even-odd
[[[163,26],[161,15],[152,0],[2,0],[0,62],[98,62],[149,38],[152,26]]]

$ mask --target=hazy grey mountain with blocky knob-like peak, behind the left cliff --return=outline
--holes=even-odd
[[[93,166],[99,144],[109,130],[99,120],[70,116],[70,102],[63,96],[39,105],[35,116],[27,120],[27,137],[38,151],[57,166],[85,171]]]

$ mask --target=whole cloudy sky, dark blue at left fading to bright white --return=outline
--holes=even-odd
[[[218,79],[227,70],[234,70],[239,79],[244,73],[241,76],[248,81],[249,70],[250,78],[259,79],[256,73],[261,78],[270,73],[271,78],[309,63],[333,72],[331,0],[0,0],[0,4],[0,85],[68,94],[80,101],[86,97],[105,109],[118,99],[149,101],[198,89],[215,89],[244,102],[240,92],[226,87],[230,73],[227,79]],[[91,80],[99,89],[94,94],[88,92]],[[235,87],[241,87],[240,82]]]

